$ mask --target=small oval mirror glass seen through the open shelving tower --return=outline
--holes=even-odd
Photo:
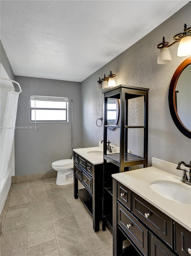
[[[107,99],[107,124],[117,125],[119,120],[119,100],[118,99]],[[114,130],[115,127],[107,127],[109,130]]]

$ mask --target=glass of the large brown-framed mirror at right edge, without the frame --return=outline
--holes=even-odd
[[[175,101],[179,119],[191,131],[191,64],[182,71],[178,78]]]

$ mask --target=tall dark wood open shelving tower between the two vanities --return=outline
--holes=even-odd
[[[128,171],[130,166],[143,165],[148,162],[148,88],[118,85],[104,91],[104,190],[103,190],[103,223],[102,230],[107,226],[112,229],[112,196],[113,196],[113,173]],[[144,124],[128,125],[128,101],[137,97],[144,97]],[[108,98],[120,100],[120,124],[107,124],[107,100]],[[107,131],[108,127],[120,129],[120,153],[107,154]],[[144,129],[144,152],[143,156],[128,153],[128,130]],[[110,162],[110,165],[108,165]],[[112,166],[112,168],[110,168]]]

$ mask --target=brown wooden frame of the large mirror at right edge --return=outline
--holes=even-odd
[[[178,82],[178,78],[181,75],[182,71],[191,64],[191,57],[187,58],[185,61],[183,61],[180,66],[176,69],[174,75],[172,76],[172,80],[170,82],[170,88],[168,93],[168,102],[169,102],[169,108],[170,108],[170,114],[172,116],[172,119],[176,125],[176,127],[181,131],[185,136],[191,139],[191,131],[187,129],[187,127],[184,126],[184,124],[181,122],[176,108],[175,103],[175,89],[176,84]]]

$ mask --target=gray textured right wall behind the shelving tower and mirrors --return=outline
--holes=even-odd
[[[191,26],[191,2],[143,37],[133,46],[93,73],[81,83],[82,104],[82,146],[98,145],[103,139],[103,126],[96,126],[96,119],[103,116],[103,94],[97,91],[97,80],[110,70],[116,74],[116,84],[149,88],[149,141],[148,157],[178,163],[191,160],[191,140],[185,137],[172,121],[168,90],[176,68],[187,57],[177,57],[178,43],[170,47],[172,61],[165,65],[157,64],[158,43],[163,36],[169,42],[175,34],[181,33],[184,23]],[[152,21],[151,21],[152,22]],[[135,31],[138,33],[138,31]],[[135,114],[136,116],[136,114]],[[131,135],[129,149],[133,147]],[[108,132],[112,144],[119,145],[119,130]],[[137,143],[138,146],[138,143]]]

